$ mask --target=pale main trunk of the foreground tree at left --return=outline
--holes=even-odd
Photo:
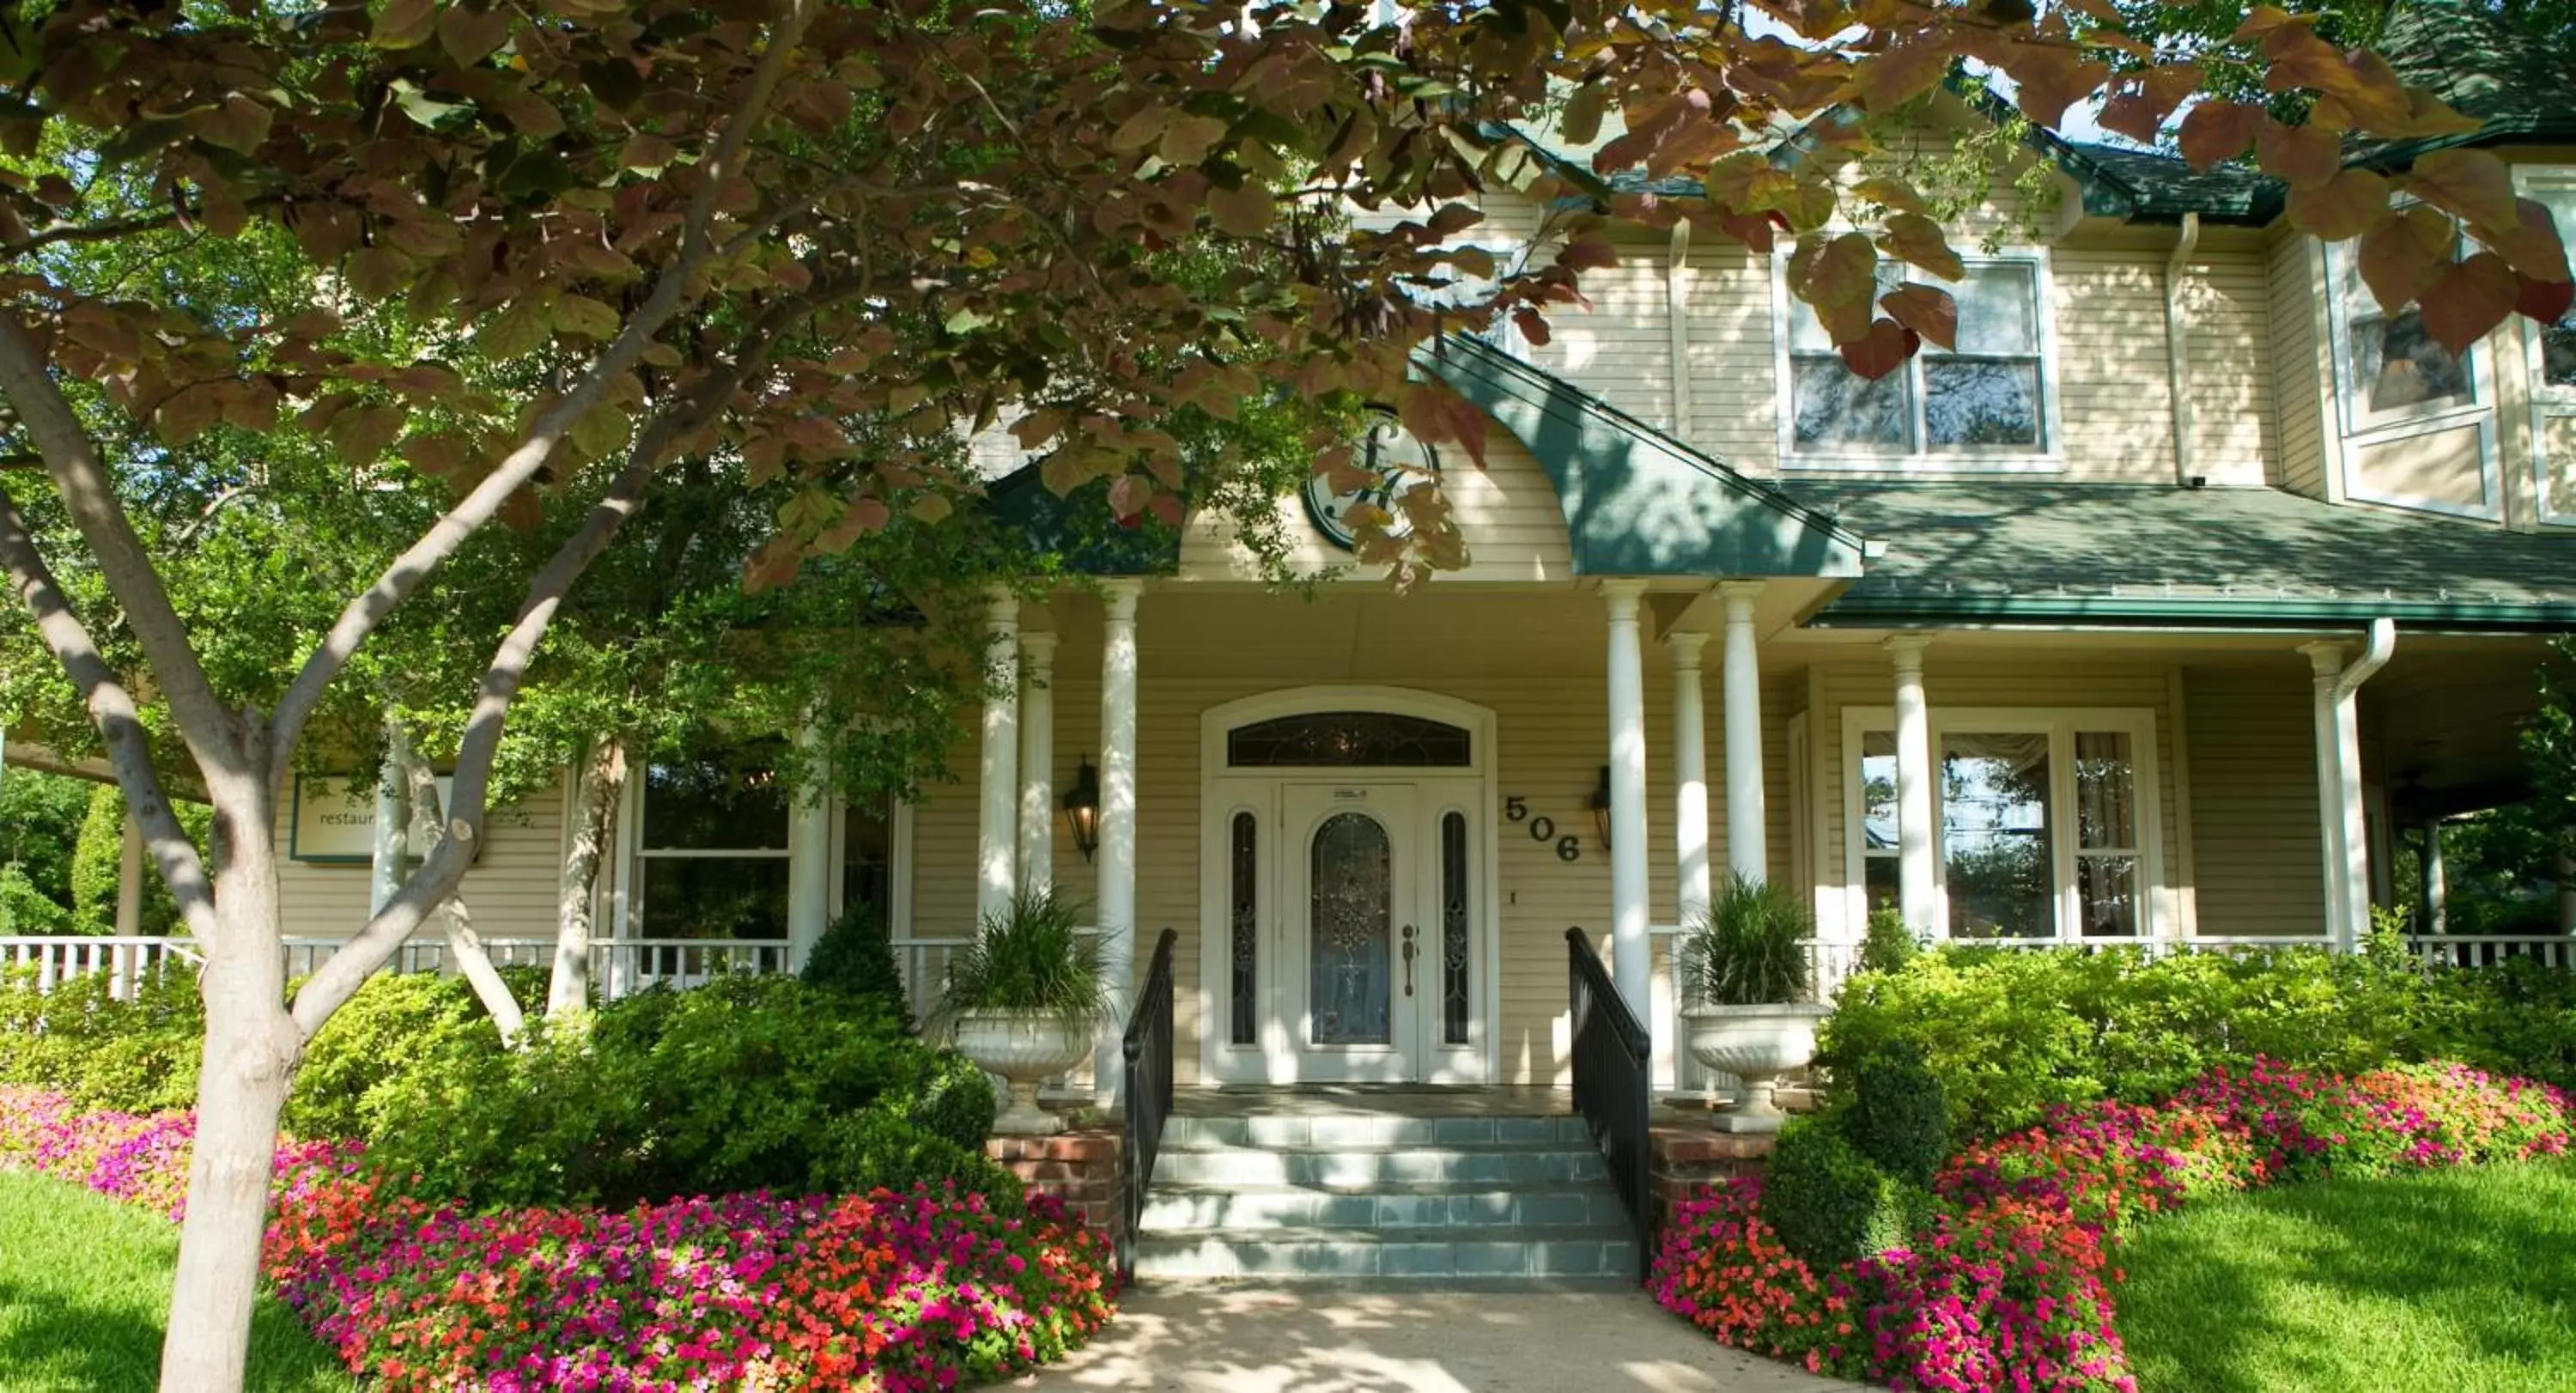
[[[252,798],[258,801],[258,798]],[[165,1393],[242,1388],[260,1236],[278,1156],[278,1110],[304,1040],[286,1014],[276,832],[265,806],[219,803],[216,935],[204,945],[206,1056],[196,1087],[196,1156],[178,1239]]]

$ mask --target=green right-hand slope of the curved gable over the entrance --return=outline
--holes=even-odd
[[[1556,487],[1574,574],[1860,574],[1857,533],[1479,337],[1440,337],[1414,350],[1414,368],[1530,448]]]

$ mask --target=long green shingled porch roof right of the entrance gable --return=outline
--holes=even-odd
[[[1811,623],[2576,628],[2576,536],[2164,484],[1795,481],[1886,538]]]

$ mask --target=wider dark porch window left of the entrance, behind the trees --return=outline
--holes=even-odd
[[[654,762],[639,780],[634,937],[788,937],[775,749]]]

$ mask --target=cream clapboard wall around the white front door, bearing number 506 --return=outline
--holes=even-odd
[[[1244,597],[1244,628],[1257,623],[1257,605],[1293,600]],[[1200,1002],[1200,716],[1221,703],[1298,685],[1368,682],[1391,687],[1419,687],[1489,706],[1497,716],[1497,788],[1502,796],[1528,798],[1535,816],[1556,821],[1558,834],[1582,837],[1584,855],[1577,863],[1556,857],[1553,842],[1533,842],[1525,824],[1502,821],[1499,847],[1499,935],[1502,960],[1502,1017],[1499,1017],[1499,1069],[1502,1081],[1564,1084],[1564,1033],[1566,1033],[1566,955],[1564,930],[1582,924],[1605,945],[1610,932],[1610,863],[1595,845],[1587,796],[1600,780],[1607,736],[1605,685],[1592,672],[1561,672],[1533,677],[1455,677],[1440,672],[1404,675],[1347,675],[1309,672],[1280,677],[1206,677],[1193,675],[1188,651],[1157,644],[1154,597],[1139,610],[1141,675],[1139,675],[1139,868],[1136,868],[1136,971],[1151,953],[1154,937],[1164,927],[1180,930],[1175,948],[1175,1025],[1180,1030],[1177,1074],[1195,1081],[1198,1040],[1203,1025]],[[1507,644],[1507,636],[1494,636]],[[1710,646],[1716,654],[1716,646]],[[1066,644],[1059,651],[1056,680],[1056,788],[1072,780],[1074,762],[1084,752],[1097,752],[1100,731],[1100,657],[1095,646]],[[1765,821],[1770,827],[1770,860],[1775,873],[1788,865],[1788,706],[1793,682],[1783,680],[1765,693],[1765,765],[1770,790],[1765,796]],[[1708,778],[1710,778],[1710,863],[1726,873],[1726,767],[1723,731],[1718,726],[1718,675],[1708,669]],[[1672,667],[1659,644],[1646,657],[1646,837],[1651,875],[1651,919],[1669,924],[1674,904],[1674,847],[1672,847]],[[976,739],[966,731],[951,752],[953,770],[974,770]],[[1365,772],[1355,775],[1365,778]],[[925,790],[914,806],[914,932],[922,937],[963,935],[974,922],[974,839],[976,790],[971,783],[953,783]],[[1273,855],[1265,842],[1265,855]],[[1061,893],[1090,901],[1095,893],[1092,868],[1082,863],[1072,842],[1056,839],[1056,886]]]

